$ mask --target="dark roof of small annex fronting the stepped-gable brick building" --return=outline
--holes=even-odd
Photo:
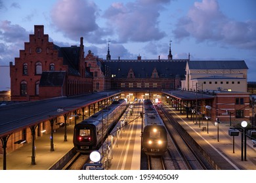
[[[63,86],[65,71],[44,71],[39,86]]]

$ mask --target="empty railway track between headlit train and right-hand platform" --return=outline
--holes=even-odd
[[[167,110],[161,107],[158,111],[160,113],[167,132],[171,137],[171,141],[168,144],[168,151],[165,154],[171,158],[171,169],[190,169],[190,170],[205,170],[211,169],[205,162],[202,161],[202,157],[198,156],[198,152],[190,146],[176,120],[167,112]],[[169,160],[170,161],[170,160]],[[169,168],[168,168],[169,169]]]

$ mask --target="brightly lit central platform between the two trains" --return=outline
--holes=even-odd
[[[107,167],[105,166],[105,169],[140,170],[142,120],[140,117],[138,118],[140,114],[139,107],[133,109],[133,116],[131,116],[129,113],[131,109],[127,108],[125,114],[120,118],[106,140],[112,146],[110,145],[110,152],[107,158],[109,159],[109,164],[107,164]],[[121,124],[126,120],[127,125],[125,123]]]

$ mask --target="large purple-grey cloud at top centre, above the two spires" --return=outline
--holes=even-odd
[[[154,3],[154,6],[152,4]],[[116,35],[117,42],[156,41],[165,37],[158,27],[162,3],[169,1],[138,0],[135,3],[113,3],[105,12],[107,24]]]

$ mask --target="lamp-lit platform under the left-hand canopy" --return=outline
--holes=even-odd
[[[54,151],[51,151],[51,133],[35,140],[35,165],[32,165],[32,144],[24,144],[7,154],[7,170],[47,170],[73,147],[74,124],[67,126],[67,141],[64,141],[64,127],[54,133]],[[8,148],[8,147],[7,147]],[[3,157],[0,157],[0,170],[3,170]]]

